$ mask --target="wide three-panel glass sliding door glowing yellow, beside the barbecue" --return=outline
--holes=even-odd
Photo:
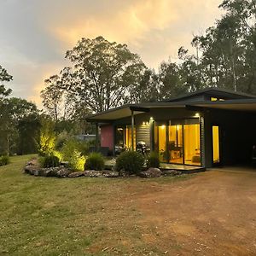
[[[154,150],[159,152],[162,162],[201,166],[200,138],[199,119],[156,123]]]

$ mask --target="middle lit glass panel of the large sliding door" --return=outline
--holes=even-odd
[[[183,126],[169,125],[169,161],[183,164]]]

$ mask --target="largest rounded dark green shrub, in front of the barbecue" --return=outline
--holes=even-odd
[[[130,174],[139,173],[144,165],[143,154],[136,151],[125,151],[116,160],[116,170],[124,170]]]

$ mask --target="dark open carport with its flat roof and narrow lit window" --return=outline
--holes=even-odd
[[[256,144],[255,99],[195,102],[187,108],[203,114],[206,167],[251,163],[252,148]],[[218,138],[214,139],[215,131],[218,131]],[[214,150],[218,150],[215,156]]]

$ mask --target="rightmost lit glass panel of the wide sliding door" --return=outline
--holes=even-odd
[[[200,125],[184,125],[184,164],[201,166]]]

